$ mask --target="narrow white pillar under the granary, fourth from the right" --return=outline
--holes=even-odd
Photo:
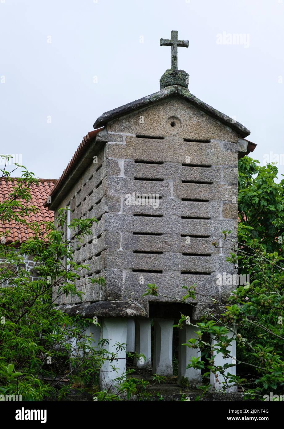
[[[151,322],[152,319],[135,319],[135,352],[146,357],[146,362],[143,357],[136,360],[139,368],[152,368]]]

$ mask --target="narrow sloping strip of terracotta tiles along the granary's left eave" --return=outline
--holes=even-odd
[[[99,131],[102,131],[104,127],[98,128],[97,130],[90,131],[87,136],[84,137],[80,145],[78,146],[77,151],[72,156],[71,161],[69,162],[66,169],[63,171],[60,178],[57,180],[54,188],[51,190],[51,193],[49,196],[51,196],[51,199],[54,197],[54,195],[58,192],[60,187],[63,185],[63,183],[66,181],[68,175],[70,172],[75,168],[75,166],[78,164],[79,160],[87,150],[87,148],[90,146],[90,143],[93,142],[96,139],[96,135],[99,133]],[[47,196],[48,197],[48,196]],[[48,206],[48,202],[45,201],[44,207]]]

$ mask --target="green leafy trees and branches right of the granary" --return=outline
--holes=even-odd
[[[210,390],[210,372],[218,379],[223,376],[224,392],[237,386],[245,397],[258,400],[270,392],[283,394],[284,180],[274,182],[277,172],[274,165],[260,167],[248,157],[239,160],[238,239],[224,231],[222,248],[228,249],[227,261],[239,266],[247,281],[236,287],[227,303],[207,297],[212,305],[203,309],[203,320],[193,325],[197,338],[188,338],[184,345],[201,350],[201,358],[193,358],[188,368],[202,371],[202,394]],[[184,288],[183,302],[199,301],[195,285]],[[160,295],[155,284],[148,284],[146,294]],[[181,315],[176,326],[182,329],[184,323],[192,325],[188,316]],[[235,334],[236,356],[228,348],[233,341],[229,331]],[[216,342],[210,353],[211,335]],[[222,367],[214,363],[218,353],[227,358]],[[236,364],[235,376],[231,368]]]

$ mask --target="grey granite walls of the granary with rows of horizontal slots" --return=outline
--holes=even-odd
[[[236,273],[225,261],[221,232],[236,237],[238,139],[179,99],[119,118],[98,134],[95,144],[104,142],[98,162],[58,207],[70,204],[72,218],[99,220],[75,252],[77,261],[90,264],[78,281],[85,302],[171,302],[194,283],[203,295],[227,296],[233,287],[218,286],[216,274]],[[126,204],[133,192],[158,195],[158,207]],[[105,277],[105,287],[86,286],[97,276]],[[165,296],[142,298],[148,283]]]

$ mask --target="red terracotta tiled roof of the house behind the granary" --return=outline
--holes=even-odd
[[[0,204],[4,200],[9,198],[10,193],[13,191],[13,187],[18,184],[18,178],[0,178]],[[37,213],[33,213],[30,216],[25,216],[26,220],[29,221],[54,221],[54,211],[48,210],[44,207],[44,202],[47,199],[49,193],[54,189],[57,179],[38,179],[39,184],[30,185],[30,194],[32,199],[29,202],[24,201],[27,207],[31,205],[39,208]],[[21,201],[23,202],[23,201]],[[5,231],[10,230],[8,236],[6,236],[6,243],[9,242],[24,242],[28,238],[33,237],[34,234],[24,225],[17,225],[14,223],[0,223],[0,237],[5,235]]]

